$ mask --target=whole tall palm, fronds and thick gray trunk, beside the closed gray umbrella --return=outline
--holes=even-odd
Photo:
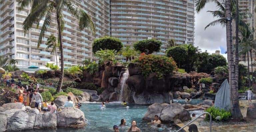
[[[219,17],[219,19],[209,23],[209,26],[213,26],[216,24],[221,24],[226,26],[226,37],[227,37],[227,54],[228,54],[228,71],[229,71],[229,84],[230,84],[230,100],[231,100],[231,114],[232,114],[232,118],[234,119],[239,119],[242,116],[241,111],[240,111],[240,107],[239,107],[239,102],[238,102],[238,79],[236,78],[236,72],[235,72],[235,65],[234,65],[234,58],[233,57],[233,37],[232,37],[232,18],[234,18],[235,14],[235,10],[236,8],[234,8],[236,5],[235,1],[232,0],[232,4],[231,4],[231,0],[222,0],[221,2],[219,2],[218,0],[196,0],[195,4],[196,4],[196,11],[199,12],[201,9],[204,8],[206,3],[209,2],[215,2],[217,4],[217,6],[219,7],[218,11],[209,11],[213,14],[214,17]],[[242,21],[240,21],[242,22]],[[239,22],[239,25],[240,25]],[[236,23],[238,24],[238,23]],[[209,26],[206,26],[209,27]],[[235,54],[236,55],[236,54]],[[238,74],[238,73],[237,73]],[[233,80],[233,81],[232,81]]]

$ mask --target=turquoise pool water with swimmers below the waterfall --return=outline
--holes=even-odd
[[[200,99],[194,99],[190,103],[200,102]],[[184,103],[184,100],[178,100],[178,103]],[[147,112],[148,105],[128,104],[129,108],[121,105],[120,102],[111,102],[106,104],[105,109],[100,109],[101,103],[86,102],[82,103],[81,110],[88,120],[88,125],[82,129],[58,128],[55,132],[112,132],[114,125],[119,125],[121,119],[126,119],[126,127],[119,128],[120,132],[127,132],[131,126],[131,121],[136,120],[137,126],[142,132],[158,132],[156,126],[148,124],[142,120]],[[192,114],[193,112],[191,112]],[[172,132],[177,129],[171,124],[162,125],[163,132]],[[49,131],[49,130],[47,130]],[[52,130],[51,130],[52,131]],[[45,131],[42,131],[45,132]]]

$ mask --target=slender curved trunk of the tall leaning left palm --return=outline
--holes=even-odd
[[[64,77],[64,58],[63,58],[63,48],[62,48],[62,38],[61,38],[61,28],[60,28],[60,19],[59,19],[59,15],[57,14],[57,24],[58,24],[58,31],[59,31],[59,41],[60,41],[60,72],[61,72],[61,76],[60,76],[60,80],[59,80],[59,84],[57,87],[57,92],[60,92],[61,87],[62,87],[62,82],[63,82],[63,77]]]

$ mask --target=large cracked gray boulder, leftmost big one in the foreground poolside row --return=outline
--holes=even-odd
[[[39,111],[30,110],[29,112],[18,111],[8,120],[7,131],[29,130],[34,128],[36,116]]]

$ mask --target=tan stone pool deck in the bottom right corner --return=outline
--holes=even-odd
[[[256,102],[256,100],[252,100],[252,103],[253,102]],[[239,100],[239,104],[240,104],[242,115],[246,121],[237,122],[237,123],[232,123],[232,122],[224,123],[225,125],[216,125],[216,123],[213,123],[212,132],[256,132],[256,125],[255,125],[256,120],[246,119],[247,108],[249,106],[248,101]],[[196,124],[200,132],[209,132],[210,131],[209,123],[202,124],[201,121],[203,121],[203,118],[199,118],[192,124]]]

